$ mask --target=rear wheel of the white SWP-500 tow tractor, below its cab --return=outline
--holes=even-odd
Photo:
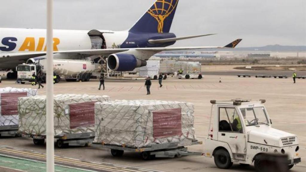
[[[229,169],[233,165],[230,154],[224,149],[217,150],[214,159],[216,166],[221,169]]]

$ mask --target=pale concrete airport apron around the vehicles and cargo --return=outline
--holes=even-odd
[[[218,69],[216,69],[218,70]],[[219,70],[226,73],[225,70]],[[232,72],[237,72],[229,70]],[[214,71],[211,71],[214,72]],[[241,71],[240,74],[244,74]],[[257,71],[256,71],[257,72]],[[259,72],[259,71],[258,71]],[[273,71],[274,72],[274,71]],[[291,72],[291,71],[289,71]],[[221,83],[219,82],[221,78]],[[163,87],[158,87],[158,81],[152,81],[151,95],[146,95],[144,81],[120,81],[106,80],[105,90],[99,91],[98,80],[90,82],[69,83],[61,81],[54,86],[55,94],[73,93],[90,95],[109,95],[115,99],[157,99],[157,100],[176,100],[190,102],[195,105],[195,128],[198,140],[204,140],[207,136],[208,123],[210,117],[210,100],[229,100],[229,99],[266,99],[265,106],[273,122],[273,127],[289,133],[296,134],[300,143],[300,156],[302,162],[293,167],[293,172],[306,171],[306,80],[297,79],[293,84],[292,78],[238,78],[228,75],[206,75],[202,80],[185,80],[169,78],[163,81]],[[3,80],[0,87],[18,88],[37,88],[30,84],[15,84],[12,80]],[[45,95],[46,88],[39,89],[39,95]],[[30,138],[1,138],[0,154],[21,157],[22,152],[34,151],[36,154],[44,154],[45,146],[36,146]],[[13,147],[13,148],[8,148]],[[6,152],[3,149],[10,149]],[[17,150],[12,150],[17,149]],[[17,152],[18,149],[21,152]],[[188,147],[189,151],[203,152],[205,144]],[[17,153],[16,153],[17,152]],[[35,154],[36,153],[36,154]],[[32,154],[25,153],[23,157],[31,159]],[[33,156],[34,156],[33,155]],[[121,171],[166,171],[166,172],[221,172],[221,171],[255,171],[253,166],[240,166],[234,164],[229,170],[221,170],[215,166],[214,160],[203,156],[187,156],[180,158],[158,158],[151,161],[144,161],[140,155],[125,152],[123,157],[115,158],[110,154],[110,150],[102,149],[97,145],[88,147],[70,147],[66,149],[55,148],[55,155],[68,159],[80,160],[80,162],[103,163],[100,166],[111,168],[116,167]],[[38,157],[36,157],[38,158]],[[43,159],[42,156],[40,156]],[[32,157],[32,159],[35,159]],[[77,162],[75,162],[77,165]],[[107,165],[107,163],[109,163]],[[1,165],[0,165],[1,166]],[[94,166],[81,164],[87,169],[100,171]],[[101,167],[101,170],[103,171]],[[127,170],[124,170],[127,168]],[[118,170],[118,169],[116,169]],[[106,171],[116,171],[107,170]],[[119,171],[120,171],[119,170]],[[2,171],[2,167],[0,167]],[[4,169],[5,171],[5,169]],[[9,169],[6,171],[11,172]]]

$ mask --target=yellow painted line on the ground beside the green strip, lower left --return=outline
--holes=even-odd
[[[6,149],[6,148],[0,148],[0,151],[5,151],[7,153],[13,153],[13,154],[19,154],[19,155],[24,155],[24,156],[31,156],[39,159],[45,159],[46,155],[44,154],[39,154],[39,153],[31,153],[31,152],[24,152],[24,151],[18,151],[16,149]],[[111,170],[111,171],[118,171],[118,172],[139,172],[139,170],[132,170],[132,169],[127,169],[126,167],[115,167],[115,166],[105,166],[99,163],[87,163],[87,162],[82,162],[78,159],[72,159],[72,158],[61,158],[58,156],[54,157],[55,161],[63,162],[63,163],[71,163],[76,166],[86,166],[90,167],[93,169],[98,169],[98,170]],[[97,168],[99,167],[99,168]]]

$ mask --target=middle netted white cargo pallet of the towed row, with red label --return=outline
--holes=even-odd
[[[76,134],[95,131],[95,102],[110,97],[63,94],[54,96],[54,134]],[[46,96],[18,99],[19,131],[29,135],[46,135]]]

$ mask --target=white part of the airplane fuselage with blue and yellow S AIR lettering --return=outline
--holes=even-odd
[[[91,49],[89,31],[55,29],[53,32],[54,51]],[[99,32],[104,32],[105,48],[114,48],[114,45],[120,46],[129,35],[128,31],[99,30]],[[7,40],[9,38],[13,39]],[[45,29],[0,28],[0,39],[2,39],[0,41],[0,52],[2,53],[42,52],[46,50]]]

